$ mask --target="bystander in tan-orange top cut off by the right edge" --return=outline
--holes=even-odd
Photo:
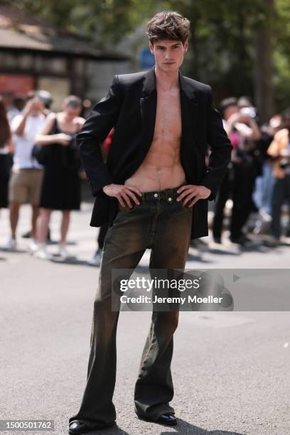
[[[267,153],[274,159],[274,186],[272,193],[271,235],[273,245],[279,245],[281,237],[281,207],[288,200],[290,208],[290,107],[282,114],[283,129],[279,130]],[[286,237],[290,237],[290,220]]]

